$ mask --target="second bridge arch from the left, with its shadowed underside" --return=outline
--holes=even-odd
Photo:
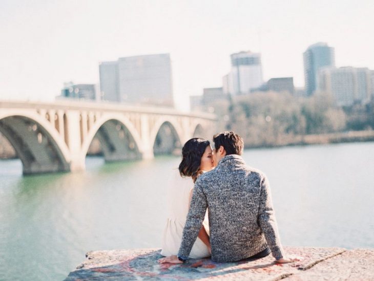
[[[86,157],[94,137],[100,141],[106,161],[141,158],[140,136],[130,120],[123,115],[108,114],[94,123],[82,143],[83,158]]]

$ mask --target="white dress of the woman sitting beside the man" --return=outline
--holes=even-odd
[[[161,254],[164,256],[178,253],[182,241],[183,227],[190,207],[190,191],[194,188],[194,183],[190,177],[182,178],[179,171],[176,170],[173,171],[169,187],[169,215],[162,235]],[[205,213],[203,225],[209,233],[207,213]],[[189,257],[202,258],[207,256],[210,256],[209,250],[198,237]]]

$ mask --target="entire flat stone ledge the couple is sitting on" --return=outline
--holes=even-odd
[[[302,260],[281,265],[269,255],[236,263],[203,258],[160,265],[159,249],[92,251],[65,280],[374,280],[374,249],[285,247],[285,251]]]

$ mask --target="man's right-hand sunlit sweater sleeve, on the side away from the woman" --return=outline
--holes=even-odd
[[[265,176],[263,176],[261,180],[258,223],[265,235],[267,245],[272,250],[273,256],[276,260],[280,260],[284,256],[284,253],[280,243],[278,225],[273,210],[270,187]]]

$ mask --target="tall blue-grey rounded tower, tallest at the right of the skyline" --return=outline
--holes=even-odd
[[[318,70],[322,67],[335,67],[335,50],[326,43],[311,45],[304,52],[305,92],[310,96],[317,89]]]

